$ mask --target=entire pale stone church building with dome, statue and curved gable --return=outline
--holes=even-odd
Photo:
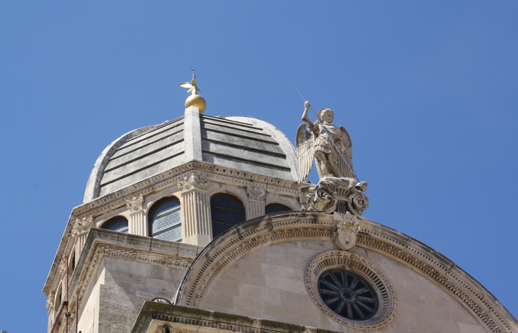
[[[362,216],[351,138],[309,107],[297,150],[196,106],[108,145],[45,282],[47,331],[518,333],[465,271]]]

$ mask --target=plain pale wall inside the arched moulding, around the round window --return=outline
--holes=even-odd
[[[329,241],[294,241],[263,247],[228,268],[200,308],[341,332],[362,332],[341,325],[319,309],[304,281],[316,253],[333,250]],[[439,285],[385,256],[356,248],[393,284],[394,319],[380,332],[485,332],[478,320]]]

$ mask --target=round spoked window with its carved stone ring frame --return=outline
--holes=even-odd
[[[389,280],[365,258],[347,251],[325,251],[308,263],[309,295],[333,320],[356,329],[388,324],[397,300]]]

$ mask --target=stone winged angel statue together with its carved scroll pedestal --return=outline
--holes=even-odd
[[[332,125],[333,110],[322,109],[313,123],[308,118],[308,101],[302,120],[305,124],[297,130],[297,155],[299,184],[304,184],[311,171],[313,160],[319,173],[319,183],[300,187],[301,210],[320,210],[326,213],[338,211],[362,215],[369,206],[365,181],[356,182],[353,171],[351,138],[342,126]],[[306,126],[309,129],[306,130]],[[307,184],[307,183],[306,183]]]

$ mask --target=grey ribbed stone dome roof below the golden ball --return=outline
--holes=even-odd
[[[196,113],[194,112],[196,111]],[[185,115],[113,141],[97,158],[83,203],[193,160],[296,181],[297,154],[276,127],[249,117]]]

